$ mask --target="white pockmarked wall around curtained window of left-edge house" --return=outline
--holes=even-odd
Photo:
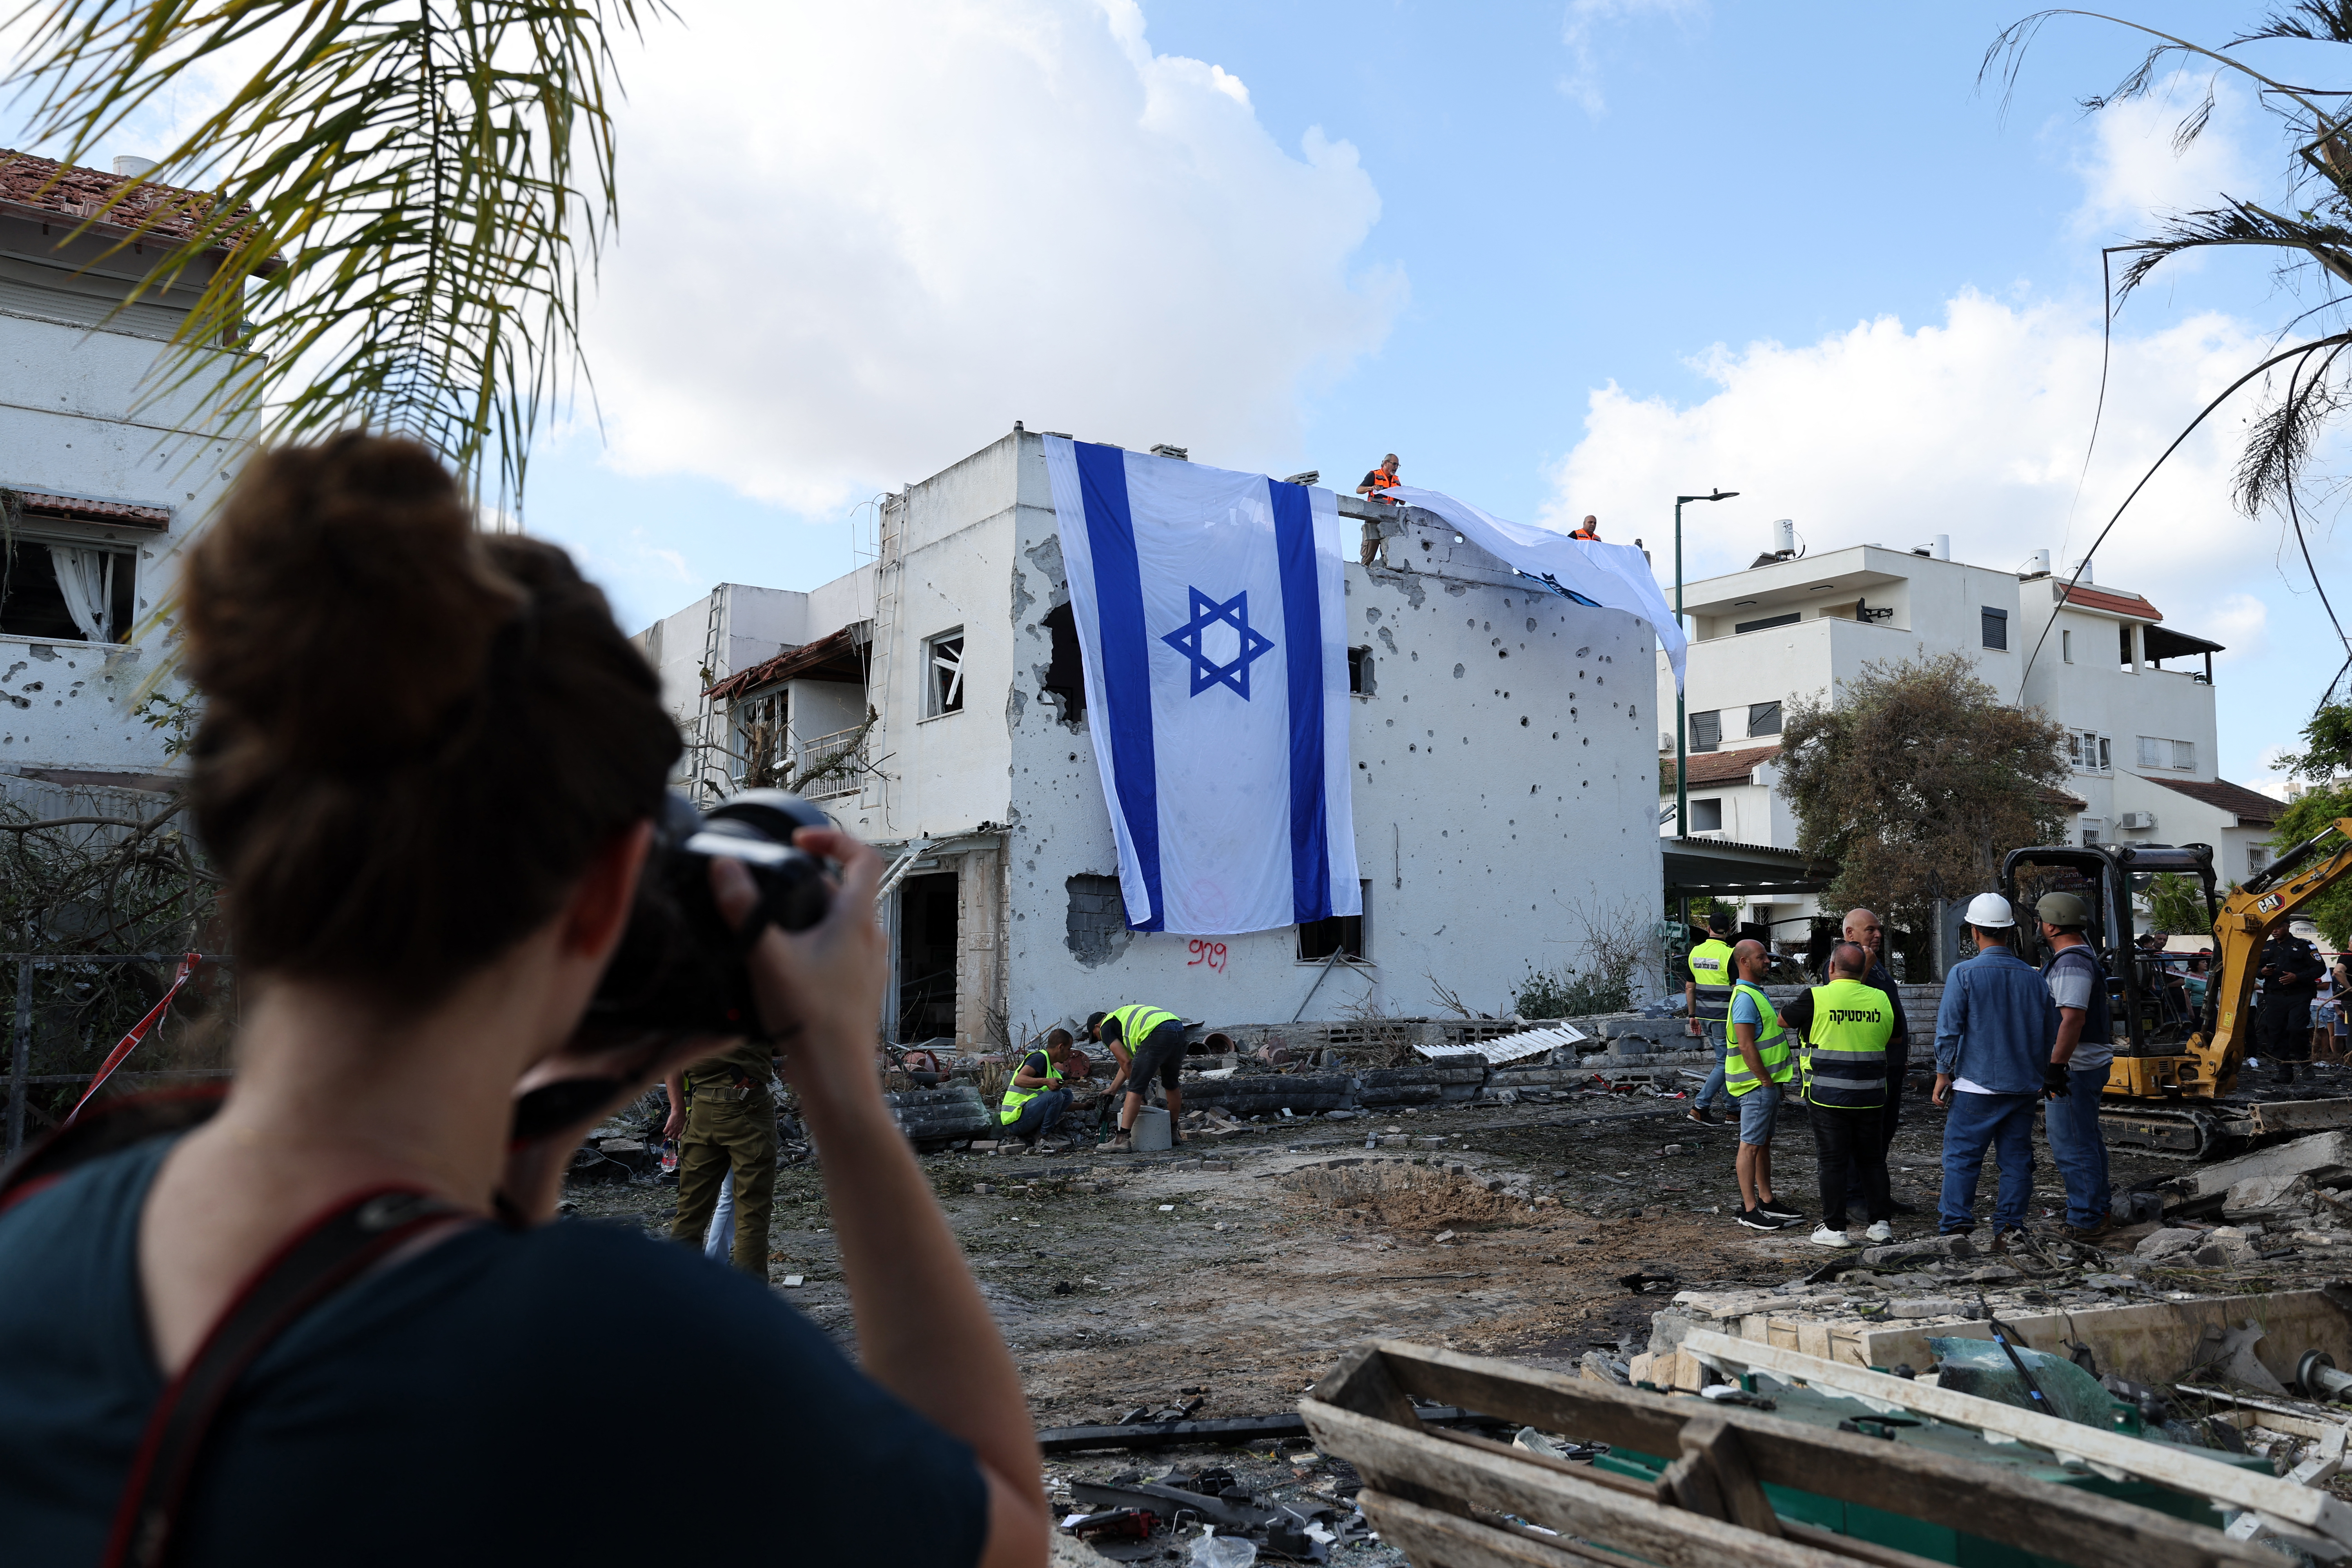
[[[0,212],[0,489],[160,508],[169,517],[139,527],[24,517],[5,567],[12,578],[54,574],[49,543],[115,552],[115,571],[132,578],[129,625],[111,628],[111,642],[0,625],[0,771],[174,773],[167,733],[146,724],[132,701],[162,656],[165,632],[148,616],[235,477],[249,421],[221,425],[207,409],[209,381],[167,386],[165,339],[181,310],[134,306],[101,324],[108,303],[132,287],[127,275],[75,277],[54,244],[35,216]],[[96,249],[82,242],[75,256]],[[226,371],[235,355],[216,360]],[[160,691],[183,696],[186,686],[165,682]]]

